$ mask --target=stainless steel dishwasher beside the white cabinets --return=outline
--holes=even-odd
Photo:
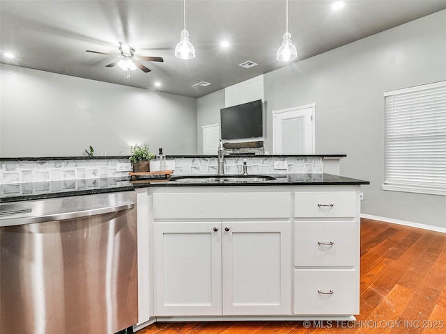
[[[3,203],[0,246],[0,333],[137,323],[134,191]]]

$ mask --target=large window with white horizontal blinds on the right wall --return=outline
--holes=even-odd
[[[446,195],[446,81],[384,96],[383,189]]]

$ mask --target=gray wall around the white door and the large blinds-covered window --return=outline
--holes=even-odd
[[[446,196],[381,189],[383,92],[446,80],[445,59],[443,10],[265,74],[266,150],[272,110],[316,102],[316,154],[347,154],[341,174],[371,182],[362,186],[363,214],[446,228]]]

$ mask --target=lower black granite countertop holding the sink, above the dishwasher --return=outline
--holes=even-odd
[[[197,175],[195,175],[197,176]],[[215,175],[209,175],[215,176]],[[234,177],[237,175],[226,175]],[[249,175],[252,177],[253,175]],[[368,181],[352,179],[330,174],[277,174],[271,175],[276,180],[265,182],[175,182],[169,180],[130,181],[130,177],[107,177],[101,179],[64,180],[50,182],[26,182],[0,184],[3,187],[1,202],[18,202],[23,200],[41,200],[81,196],[95,193],[113,193],[117,191],[133,191],[138,188],[152,186],[339,186],[370,184]]]

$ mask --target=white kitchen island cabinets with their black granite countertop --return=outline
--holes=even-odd
[[[56,192],[52,182],[47,191],[33,182],[29,189],[37,186],[37,193],[1,201],[135,191],[136,330],[154,321],[354,319],[360,186],[369,182],[327,173],[269,175],[274,180],[116,177],[99,180],[96,189]]]

